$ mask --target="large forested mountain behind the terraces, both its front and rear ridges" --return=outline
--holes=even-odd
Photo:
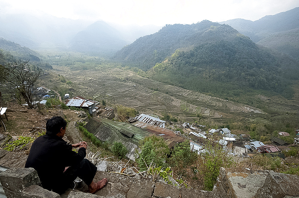
[[[291,97],[292,80],[299,79],[296,60],[257,46],[229,25],[210,21],[165,26],[114,58],[149,69],[152,79],[218,96],[254,89]]]

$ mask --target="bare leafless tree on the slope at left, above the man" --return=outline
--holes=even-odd
[[[6,80],[12,89],[17,90],[25,99],[29,108],[34,108],[34,92],[37,88],[42,69],[32,66],[29,61],[17,61],[15,63],[6,63]]]

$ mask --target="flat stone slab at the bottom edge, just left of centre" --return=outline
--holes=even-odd
[[[150,198],[154,192],[155,182],[148,180],[134,180],[132,183],[127,198]]]

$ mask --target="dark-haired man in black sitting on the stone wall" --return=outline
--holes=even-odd
[[[79,177],[88,185],[90,193],[96,193],[108,183],[106,178],[95,183],[93,178],[97,167],[86,156],[86,142],[67,144],[65,135],[66,121],[54,116],[46,123],[46,134],[38,137],[32,144],[25,168],[34,168],[42,187],[58,194],[74,187],[74,180]],[[78,153],[72,148],[79,147]],[[68,167],[66,169],[66,167]]]

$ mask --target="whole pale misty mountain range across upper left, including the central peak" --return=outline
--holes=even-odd
[[[158,26],[109,25],[103,21],[92,24],[45,13],[4,15],[0,12],[0,38],[34,50],[109,52],[159,29]]]

